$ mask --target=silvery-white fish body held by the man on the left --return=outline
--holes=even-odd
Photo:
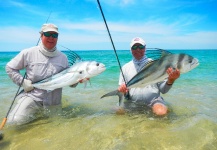
[[[53,91],[65,86],[77,84],[81,80],[89,80],[104,72],[106,67],[96,61],[81,61],[49,78],[33,84],[34,88]]]

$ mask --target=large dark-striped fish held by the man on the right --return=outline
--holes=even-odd
[[[167,69],[178,69],[180,74],[187,73],[199,65],[199,60],[188,54],[172,54],[163,55],[158,60],[151,60],[139,71],[130,81],[126,83],[128,89],[143,88],[147,85],[153,85],[164,81],[168,78]],[[109,92],[101,98],[117,95],[119,97],[119,105],[123,102],[123,93],[118,90]]]

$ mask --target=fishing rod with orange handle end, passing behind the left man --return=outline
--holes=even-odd
[[[52,11],[51,11],[51,12],[52,12]],[[46,23],[48,22],[48,20],[49,20],[49,18],[50,18],[51,12],[50,12],[50,14],[49,14],[49,16],[48,16],[48,18],[47,18],[47,20],[46,20]],[[38,43],[39,43],[39,41],[40,41],[40,38],[41,38],[41,37],[39,37],[36,46],[38,45]],[[3,118],[3,121],[2,121],[2,123],[1,123],[1,125],[0,125],[0,140],[2,140],[3,137],[4,137],[3,132],[2,132],[2,129],[4,128],[4,126],[5,126],[6,122],[7,122],[8,115],[9,115],[9,113],[10,113],[10,111],[11,111],[11,108],[12,108],[14,102],[15,102],[15,99],[16,99],[17,96],[20,94],[19,91],[20,91],[20,88],[21,88],[21,86],[22,86],[22,84],[23,84],[23,81],[24,81],[24,79],[26,78],[26,76],[27,76],[27,74],[26,74],[26,72],[25,72],[25,74],[23,75],[21,84],[19,85],[19,88],[18,88],[18,90],[17,90],[17,93],[16,93],[16,95],[14,96],[14,99],[13,99],[13,101],[12,101],[12,103],[11,103],[9,109],[8,109],[8,112],[7,112],[6,116],[5,116],[5,118]]]

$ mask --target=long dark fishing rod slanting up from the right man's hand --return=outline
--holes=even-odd
[[[114,43],[113,43],[112,36],[111,36],[111,34],[110,34],[108,25],[107,25],[107,23],[106,23],[106,19],[105,19],[105,16],[104,16],[104,14],[103,14],[102,7],[101,7],[101,5],[100,5],[99,0],[97,0],[97,3],[98,3],[98,5],[99,5],[100,12],[101,12],[101,14],[102,14],[102,17],[103,17],[103,20],[104,20],[106,29],[107,29],[107,31],[108,31],[108,34],[109,34],[109,37],[110,37],[110,40],[111,40],[111,43],[112,43],[112,46],[113,46],[113,49],[114,49],[114,52],[115,52],[115,56],[116,56],[117,61],[118,61],[118,65],[119,65],[121,74],[122,74],[122,76],[123,76],[123,79],[124,79],[125,84],[127,85],[127,82],[126,82],[126,79],[124,78],[124,73],[123,73],[123,71],[122,71],[121,64],[120,64],[120,61],[119,61],[119,58],[118,58],[118,55],[117,55],[117,52],[116,52],[116,49],[115,49],[115,45],[114,45]]]

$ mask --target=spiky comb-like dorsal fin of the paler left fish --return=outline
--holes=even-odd
[[[67,49],[67,51],[63,51],[63,52],[66,54],[66,56],[68,58],[69,66],[72,66],[76,62],[82,61],[81,57],[77,53],[75,53],[74,51],[70,50],[67,47],[64,47],[62,45],[60,45],[60,46]]]

